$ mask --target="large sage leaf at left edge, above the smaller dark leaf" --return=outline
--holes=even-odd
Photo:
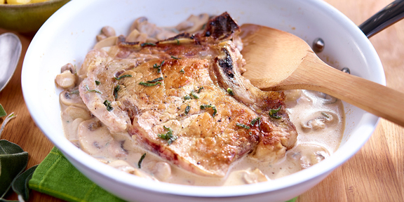
[[[7,140],[0,140],[0,198],[11,188],[11,182],[27,167],[28,152]]]

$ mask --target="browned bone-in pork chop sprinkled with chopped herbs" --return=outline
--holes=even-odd
[[[224,177],[247,154],[274,162],[297,133],[283,93],[261,91],[241,76],[242,55],[231,41],[239,31],[223,13],[195,36],[156,44],[122,39],[108,52],[92,50],[79,72],[80,95],[112,133],[128,131],[198,175]]]

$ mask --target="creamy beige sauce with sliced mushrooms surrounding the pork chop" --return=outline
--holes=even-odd
[[[177,32],[198,32],[208,19],[207,14],[191,15],[177,27],[163,29],[147,22],[146,18],[138,18],[126,39],[154,43],[175,36]],[[114,46],[114,37],[114,29],[104,27],[102,34],[97,36],[99,42],[95,48]],[[81,100],[75,87],[79,82],[72,74],[76,72],[74,66],[65,65],[61,72],[55,82],[59,87],[67,89],[60,93],[62,125],[67,139],[109,166],[152,180],[203,186],[274,180],[308,168],[330,156],[339,147],[344,132],[344,108],[340,100],[311,90],[288,90],[285,91],[285,104],[299,134],[296,146],[288,150],[277,163],[261,163],[245,156],[234,163],[226,177],[201,177],[171,165],[152,152],[144,151],[128,133],[109,133],[108,128],[90,114]]]

